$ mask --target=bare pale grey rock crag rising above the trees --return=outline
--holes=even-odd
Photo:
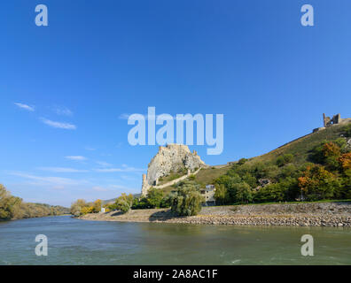
[[[157,186],[159,178],[170,172],[177,172],[184,168],[188,172],[194,172],[203,165],[205,163],[197,152],[194,150],[191,153],[186,145],[168,144],[166,147],[160,147],[159,152],[149,163],[147,175],[143,175],[142,195],[147,195],[148,189]]]

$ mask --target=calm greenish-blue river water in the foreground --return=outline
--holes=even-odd
[[[48,256],[35,255],[37,234]],[[314,256],[301,256],[303,234]],[[351,229],[32,218],[0,222],[0,264],[351,264]]]

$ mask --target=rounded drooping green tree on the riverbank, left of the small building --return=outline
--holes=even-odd
[[[194,182],[186,181],[178,188],[173,199],[172,211],[180,216],[197,215],[204,201],[199,187]]]

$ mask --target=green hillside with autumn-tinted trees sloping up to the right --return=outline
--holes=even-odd
[[[328,126],[259,157],[202,168],[189,179],[200,187],[223,186],[219,203],[349,198],[350,132],[351,122]],[[179,185],[163,188],[164,194]]]

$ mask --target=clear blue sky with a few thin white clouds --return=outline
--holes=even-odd
[[[35,26],[46,4],[49,27]],[[315,27],[300,25],[312,4]],[[254,157],[351,117],[351,2],[13,0],[0,10],[0,183],[27,202],[138,193],[158,146],[125,114],[224,114],[222,155]]]

